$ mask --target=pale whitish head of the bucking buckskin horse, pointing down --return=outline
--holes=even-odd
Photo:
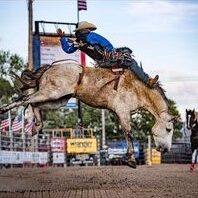
[[[170,151],[172,144],[174,120],[175,118],[169,114],[163,114],[156,120],[152,128],[152,133],[154,136],[156,149],[158,151]]]

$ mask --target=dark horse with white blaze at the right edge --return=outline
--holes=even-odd
[[[198,154],[198,112],[186,109],[186,125],[187,129],[191,130],[190,142],[192,150],[192,163],[190,170],[193,171],[195,168],[196,158]]]

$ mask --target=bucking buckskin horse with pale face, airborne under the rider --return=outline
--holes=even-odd
[[[124,131],[128,143],[127,163],[136,168],[130,119],[131,113],[143,108],[155,118],[152,134],[157,150],[164,152],[170,150],[173,116],[169,113],[168,101],[160,85],[150,89],[129,70],[124,70],[118,82],[117,76],[111,69],[84,68],[71,62],[54,64],[42,75],[34,72],[33,76],[36,76],[38,81],[32,83],[31,87],[37,86],[37,91],[33,94],[25,94],[13,103],[0,107],[0,113],[30,104],[39,131],[42,128],[40,110],[57,109],[65,105],[71,97],[76,97],[92,107],[108,109],[117,115]],[[117,88],[115,88],[116,82]]]

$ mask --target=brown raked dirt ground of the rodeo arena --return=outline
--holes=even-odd
[[[1,198],[193,198],[198,165],[14,168],[0,170]]]

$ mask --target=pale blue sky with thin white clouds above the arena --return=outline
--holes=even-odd
[[[34,0],[33,20],[76,23],[76,1]],[[87,0],[79,15],[114,47],[131,48],[146,73],[160,76],[183,120],[185,109],[198,111],[197,0]],[[0,0],[0,50],[27,61],[27,0]]]

